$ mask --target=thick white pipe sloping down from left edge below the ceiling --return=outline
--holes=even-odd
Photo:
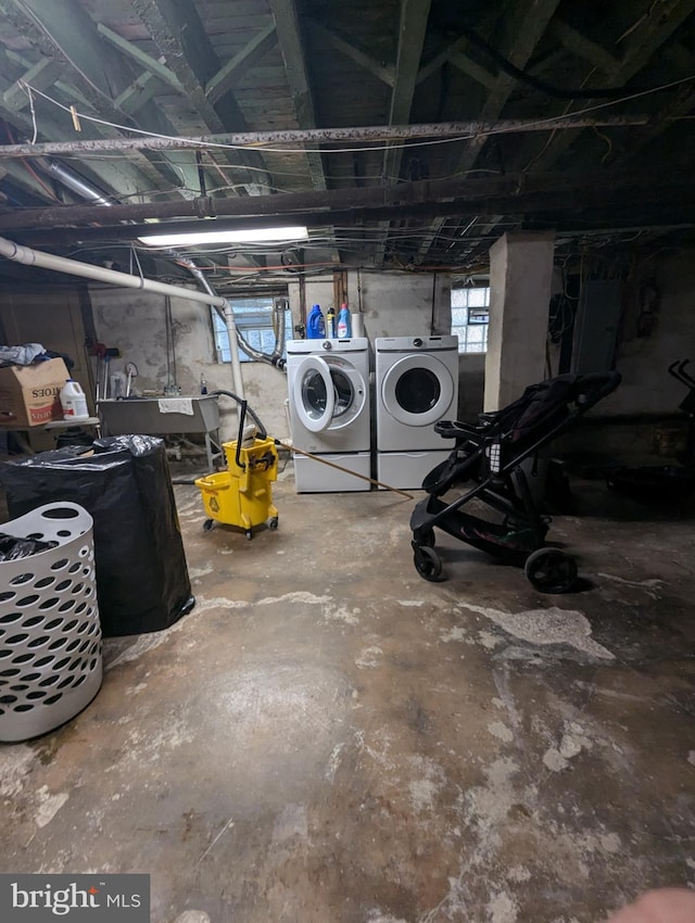
[[[184,286],[169,286],[166,282],[155,282],[153,279],[143,279],[141,276],[131,276],[128,273],[117,273],[115,269],[105,269],[103,266],[93,266],[91,263],[80,263],[77,260],[67,260],[65,256],[54,256],[40,250],[31,250],[22,246],[11,240],[0,237],[0,256],[22,263],[24,266],[40,266],[42,269],[53,269],[56,273],[67,273],[70,276],[83,276],[98,282],[108,282],[112,286],[122,286],[126,289],[140,289],[143,292],[156,292],[157,294],[185,298],[189,301],[199,301],[203,304],[212,304],[224,308],[228,304],[227,299],[219,295],[208,295],[204,292],[187,289]],[[233,355],[230,340],[231,352]],[[241,395],[239,395],[241,396]]]

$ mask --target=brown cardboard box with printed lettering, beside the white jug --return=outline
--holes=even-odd
[[[62,420],[60,393],[67,378],[63,359],[0,368],[0,427],[22,429]]]

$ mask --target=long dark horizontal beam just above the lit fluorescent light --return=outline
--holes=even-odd
[[[61,205],[51,207],[23,208],[0,214],[0,231],[12,236],[29,230],[72,227],[71,232],[85,239],[112,236],[128,239],[134,233],[141,236],[142,226],[135,228],[130,223],[142,223],[159,217],[191,218],[200,222],[204,215],[215,217],[215,224],[226,226],[228,219],[241,223],[281,222],[288,215],[304,217],[325,227],[336,216],[341,219],[352,211],[355,219],[383,220],[389,210],[396,217],[443,214],[523,215],[536,212],[572,210],[572,220],[586,210],[601,212],[603,218],[610,217],[616,205],[620,207],[660,205],[665,213],[674,205],[683,206],[695,202],[695,186],[687,174],[553,174],[551,176],[505,176],[493,179],[434,180],[413,184],[396,184],[390,187],[364,189],[340,189],[282,195],[252,195],[243,199],[197,200],[195,202],[148,203],[144,205],[114,205],[109,210],[96,205]],[[110,222],[109,228],[78,228],[75,225],[92,225]],[[123,223],[123,224],[118,224]],[[695,220],[693,222],[695,224]],[[176,227],[181,225],[176,222]],[[257,224],[256,224],[257,226]],[[151,224],[144,227],[152,228]],[[160,225],[160,228],[164,225]]]

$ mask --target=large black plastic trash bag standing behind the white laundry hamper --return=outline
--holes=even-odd
[[[93,455],[71,446],[5,462],[0,481],[10,517],[55,501],[83,506],[94,520],[104,636],[161,631],[195,604],[164,442],[118,435],[93,448]]]

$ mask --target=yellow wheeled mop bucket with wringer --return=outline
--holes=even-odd
[[[240,414],[240,433],[243,433],[244,404]],[[223,522],[243,529],[247,539],[252,538],[254,526],[264,522],[269,529],[277,529],[278,510],[273,505],[270,485],[278,476],[275,440],[267,435],[243,442],[236,439],[233,442],[224,442],[222,447],[227,459],[227,470],[205,475],[195,481],[208,517],[203,529],[207,531],[215,522]]]

